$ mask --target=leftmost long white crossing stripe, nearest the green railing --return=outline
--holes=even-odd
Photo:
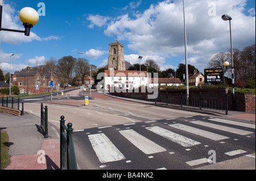
[[[104,133],[88,135],[90,143],[101,163],[115,162],[125,159]]]

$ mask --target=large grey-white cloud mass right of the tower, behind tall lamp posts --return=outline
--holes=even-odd
[[[216,14],[209,14],[216,5]],[[185,18],[187,27],[188,63],[198,69],[204,69],[212,54],[228,52],[230,49],[229,23],[221,19],[223,14],[232,16],[233,48],[242,49],[255,44],[255,10],[245,15],[246,0],[197,0],[185,1]],[[98,15],[100,16],[100,15]],[[135,18],[134,18],[135,17]],[[106,17],[100,16],[100,19]],[[109,19],[109,17],[108,17]],[[125,40],[127,48],[138,54],[154,55],[168,58],[168,64],[179,64],[174,57],[184,57],[184,24],[182,1],[162,1],[151,5],[145,11],[134,12],[133,16],[125,14],[106,20],[93,26],[104,27],[106,36]],[[126,56],[131,64],[138,57]],[[162,59],[154,59],[164,68]]]

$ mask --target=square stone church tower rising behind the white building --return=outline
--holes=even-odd
[[[109,70],[126,70],[123,60],[123,45],[117,40],[109,44]]]

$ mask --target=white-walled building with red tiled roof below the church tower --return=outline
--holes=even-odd
[[[148,85],[147,71],[105,70],[104,90],[118,87],[123,90],[133,90]]]

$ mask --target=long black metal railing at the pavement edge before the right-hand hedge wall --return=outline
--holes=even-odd
[[[200,110],[225,111],[228,115],[228,94],[226,95],[187,95],[159,94],[155,104],[199,108]]]

